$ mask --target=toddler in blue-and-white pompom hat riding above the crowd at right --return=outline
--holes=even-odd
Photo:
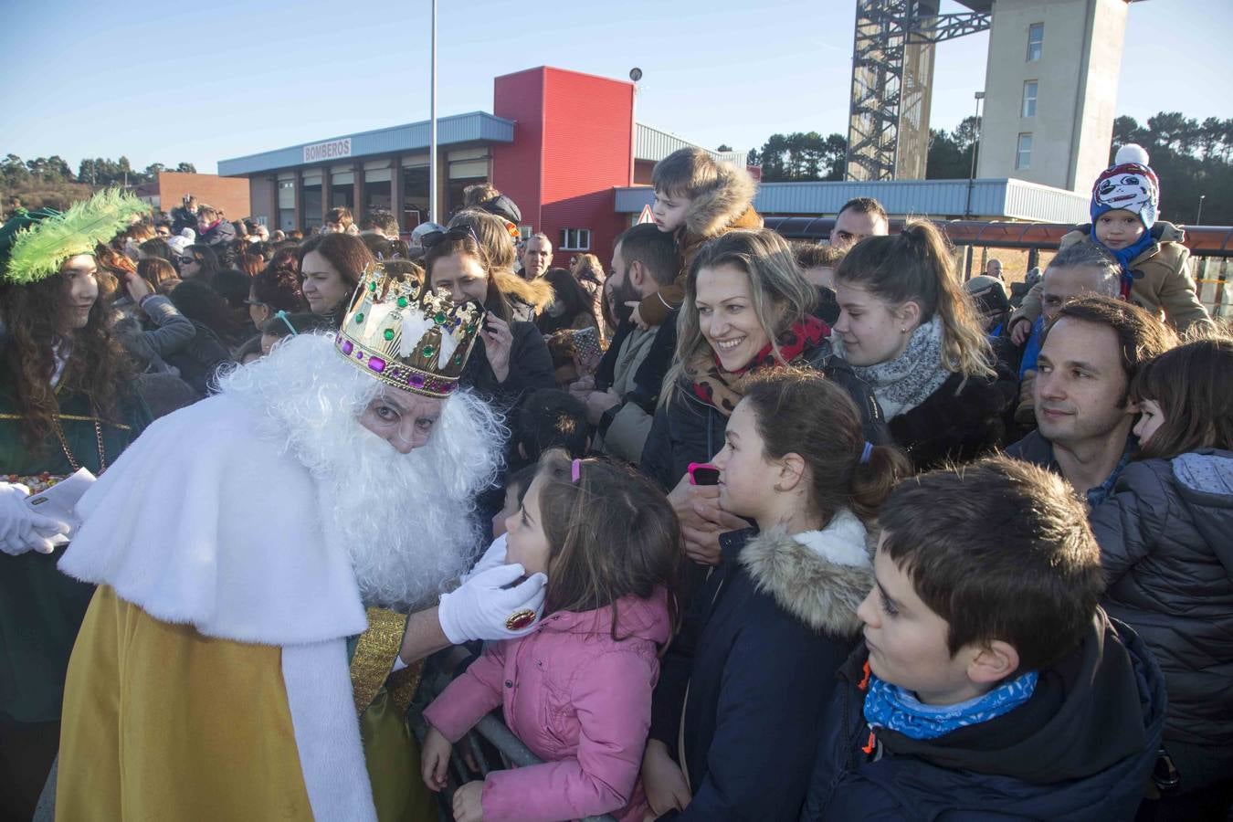
[[[1152,314],[1164,312],[1185,334],[1196,323],[1210,325],[1211,318],[1187,271],[1186,232],[1157,219],[1159,203],[1160,181],[1148,166],[1148,153],[1141,145],[1123,145],[1091,189],[1091,223],[1064,235],[1059,249],[1074,243],[1104,248],[1122,266],[1122,299]],[[1033,288],[1011,315],[1011,339],[1022,344],[1039,315],[1041,292]]]

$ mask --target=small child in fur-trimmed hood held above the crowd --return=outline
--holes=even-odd
[[[684,299],[684,279],[703,243],[734,228],[762,228],[753,211],[757,184],[745,169],[718,161],[710,152],[682,148],[655,164],[651,214],[661,232],[677,242],[681,274],[671,286],[642,299],[634,322],[660,325]]]

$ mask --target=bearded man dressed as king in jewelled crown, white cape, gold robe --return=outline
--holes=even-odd
[[[407,664],[524,632],[545,580],[493,563],[407,616],[469,567],[502,447],[456,391],[482,311],[423,282],[374,266],[335,336],[224,376],[83,497],[60,569],[99,589],[65,685],[60,818],[424,807]]]

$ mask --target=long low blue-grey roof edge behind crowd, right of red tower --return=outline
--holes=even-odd
[[[875,197],[890,214],[957,217],[968,211],[968,181],[763,182],[753,207],[764,214],[835,214],[853,197]],[[651,200],[647,186],[615,190],[619,213],[636,214]],[[1081,223],[1088,219],[1088,197],[1023,180],[975,180],[970,211],[980,217]]]

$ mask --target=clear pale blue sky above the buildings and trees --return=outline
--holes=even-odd
[[[0,155],[219,159],[427,120],[427,0],[38,0],[0,26]],[[846,132],[851,0],[441,2],[439,112],[492,110],[492,78],[642,69],[641,122],[711,148]],[[946,0],[943,11],[961,10]],[[1117,112],[1233,117],[1233,2],[1131,6]],[[986,35],[938,48],[935,128],[972,113]]]

